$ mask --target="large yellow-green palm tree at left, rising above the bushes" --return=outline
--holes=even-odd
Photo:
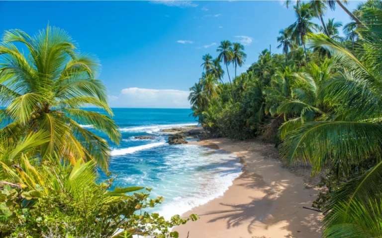
[[[23,44],[25,56],[13,43]],[[21,140],[35,131],[47,131],[49,141],[40,146],[41,158],[58,153],[63,159],[95,161],[107,171],[109,147],[81,124],[91,124],[115,143],[120,133],[107,106],[105,86],[96,79],[99,63],[80,54],[71,37],[47,27],[30,37],[21,30],[5,31],[0,44],[0,135]],[[107,115],[81,109],[93,105]],[[7,120],[5,120],[7,119]]]

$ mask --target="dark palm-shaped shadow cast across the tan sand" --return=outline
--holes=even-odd
[[[240,182],[236,185],[243,186],[248,189],[259,189],[259,193],[262,193],[261,197],[248,197],[251,199],[248,203],[239,203],[239,204],[229,204],[229,203],[220,203],[220,205],[224,206],[222,209],[218,209],[212,212],[208,212],[204,215],[217,215],[214,216],[213,219],[210,219],[208,223],[213,223],[219,220],[224,220],[226,222],[226,228],[230,229],[233,227],[241,226],[243,224],[246,225],[247,231],[249,234],[253,234],[258,226],[261,226],[265,230],[268,230],[270,226],[275,224],[279,224],[286,219],[284,216],[288,217],[291,220],[288,220],[289,226],[293,223],[293,228],[291,227],[283,227],[282,229],[286,229],[287,231],[291,231],[291,234],[285,236],[288,237],[303,237],[300,234],[300,231],[295,227],[307,226],[311,227],[315,221],[314,216],[311,215],[311,220],[309,218],[304,219],[303,221],[297,220],[294,216],[298,212],[298,209],[302,209],[302,205],[298,203],[298,201],[294,201],[292,197],[288,198],[287,196],[283,197],[285,200],[286,206],[293,207],[295,209],[285,209],[283,207],[278,208],[278,217],[272,215],[272,210],[274,209],[274,203],[277,201],[283,193],[287,191],[287,189],[294,189],[293,184],[288,184],[288,180],[281,181],[273,181],[272,185],[267,184],[264,181],[263,177],[257,175],[255,173],[243,173],[240,177]],[[280,214],[280,210],[282,213]],[[313,212],[314,213],[314,212]],[[312,222],[312,224],[309,224]],[[312,232],[316,232],[313,231]],[[307,235],[307,234],[305,234]]]

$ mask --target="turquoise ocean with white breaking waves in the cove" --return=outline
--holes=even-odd
[[[154,212],[167,219],[221,196],[241,174],[242,165],[234,154],[167,143],[168,135],[162,129],[197,125],[189,117],[190,109],[116,108],[113,113],[122,134],[120,144],[101,135],[111,147],[109,171],[115,177],[113,185],[152,188],[152,197],[164,197]],[[91,125],[83,127],[95,131]],[[134,138],[139,135],[153,138]],[[100,173],[100,179],[106,176]]]

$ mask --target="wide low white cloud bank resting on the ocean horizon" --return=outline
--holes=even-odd
[[[118,97],[109,96],[111,107],[190,108],[188,91],[175,89],[124,88]]]

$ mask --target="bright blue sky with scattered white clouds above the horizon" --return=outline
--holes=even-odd
[[[347,7],[359,3],[349,1]],[[201,75],[203,55],[216,57],[222,40],[240,42],[247,59],[238,74],[245,72],[262,50],[281,53],[279,30],[295,20],[292,7],[276,0],[0,1],[0,12],[0,32],[34,35],[48,22],[67,31],[81,52],[100,60],[98,78],[109,105],[126,108],[189,108],[189,88]],[[350,21],[339,6],[324,19],[333,17]]]

